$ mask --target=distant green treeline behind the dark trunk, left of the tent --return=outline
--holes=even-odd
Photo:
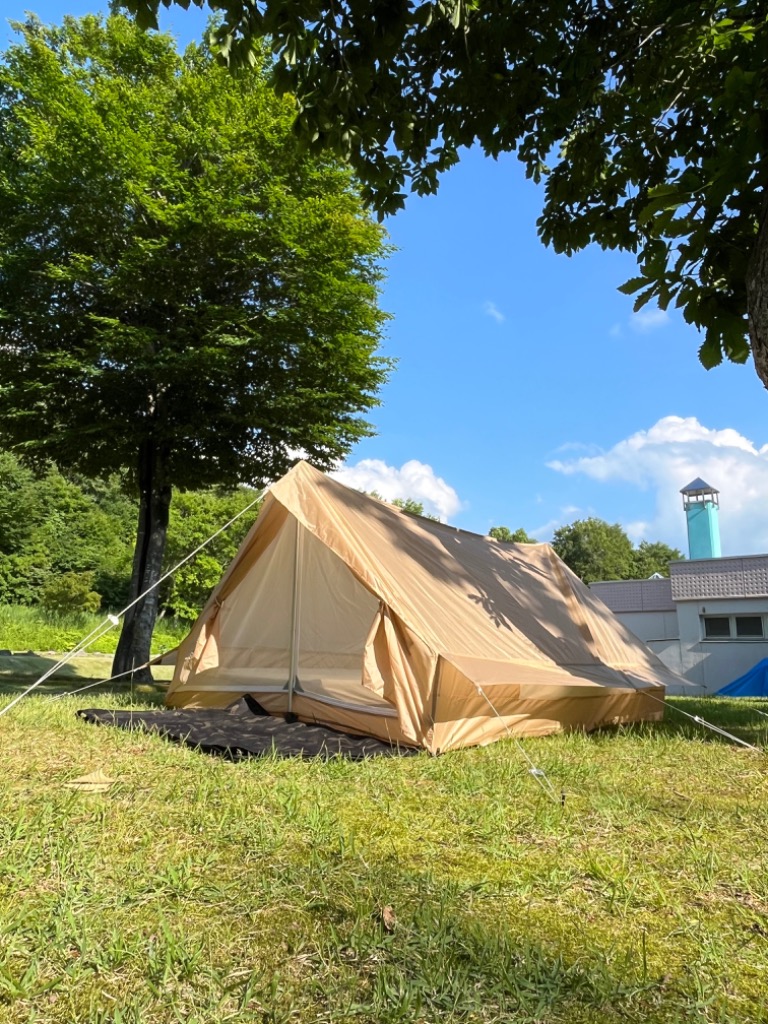
[[[166,567],[253,501],[246,487],[177,492],[171,506]],[[249,510],[164,585],[163,607],[194,618],[253,524]],[[42,604],[53,611],[123,607],[128,599],[137,500],[119,476],[89,480],[55,466],[33,472],[0,452],[0,604]]]

